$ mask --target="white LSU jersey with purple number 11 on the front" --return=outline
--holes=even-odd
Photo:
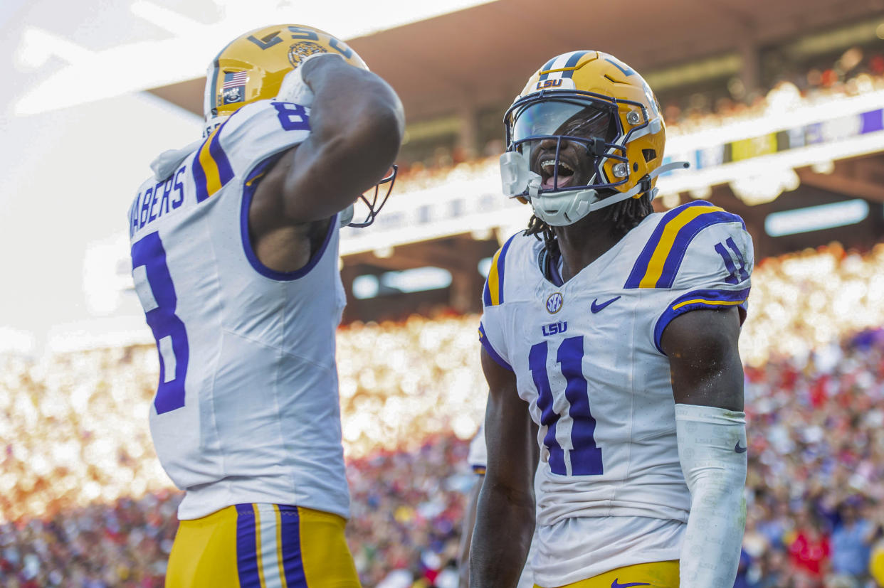
[[[535,579],[678,559],[690,491],[660,337],[695,309],[744,315],[751,237],[739,216],[696,201],[647,216],[568,283],[545,262],[536,237],[511,237],[492,260],[479,328],[539,426]],[[613,541],[610,520],[636,541]]]

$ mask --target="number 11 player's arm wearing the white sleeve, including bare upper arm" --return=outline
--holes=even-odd
[[[690,516],[680,562],[682,588],[734,585],[746,521],[746,426],[740,316],[696,310],[669,323],[669,357],[682,472]]]

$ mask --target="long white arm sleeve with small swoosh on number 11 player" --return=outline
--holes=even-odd
[[[746,524],[743,412],[675,404],[678,456],[690,489],[682,544],[682,588],[734,585]]]

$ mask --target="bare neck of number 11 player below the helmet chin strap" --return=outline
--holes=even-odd
[[[566,227],[552,227],[563,261],[561,278],[568,282],[620,242],[625,233],[615,230],[607,215],[590,213]]]

